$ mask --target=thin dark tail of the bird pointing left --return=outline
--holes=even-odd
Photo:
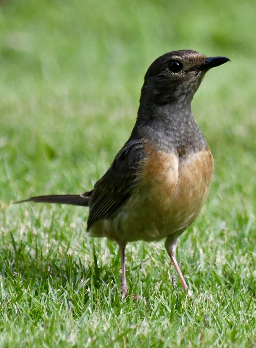
[[[14,203],[37,202],[37,203],[59,203],[72,204],[88,207],[92,191],[85,192],[83,195],[52,195],[52,196],[37,196],[29,199],[20,200]]]

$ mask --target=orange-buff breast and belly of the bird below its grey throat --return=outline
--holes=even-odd
[[[119,243],[152,241],[179,235],[195,220],[212,179],[210,150],[181,157],[157,151],[143,164],[131,197],[109,219],[95,223],[91,235]]]

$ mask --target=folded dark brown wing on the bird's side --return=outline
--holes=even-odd
[[[139,164],[145,158],[142,142],[130,140],[118,152],[110,168],[94,185],[89,207],[87,230],[111,216],[130,196],[137,183]]]

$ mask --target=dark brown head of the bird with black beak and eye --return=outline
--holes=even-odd
[[[141,102],[154,104],[191,102],[205,72],[229,61],[226,57],[209,57],[191,50],[173,51],[157,58],[148,68],[141,90]]]

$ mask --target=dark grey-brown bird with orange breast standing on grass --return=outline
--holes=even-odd
[[[128,291],[125,247],[138,240],[166,238],[166,251],[188,290],[176,259],[177,240],[199,214],[214,172],[214,159],[192,115],[191,101],[205,73],[228,61],[193,50],[158,57],[145,74],[131,135],[93,189],[15,202],[89,207],[88,236],[107,237],[119,245],[122,298]]]

